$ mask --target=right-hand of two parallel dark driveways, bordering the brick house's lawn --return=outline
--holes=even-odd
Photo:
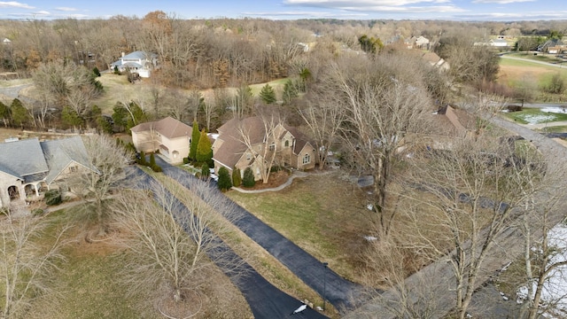
[[[172,167],[163,159],[156,158],[156,162],[163,168],[165,175],[170,176],[182,183],[183,186],[189,187],[187,180],[195,178],[183,169]],[[361,286],[353,284],[330,268],[324,268],[322,261],[318,261],[293,244],[286,237],[283,237],[276,230],[272,229],[264,222],[261,222],[256,216],[246,211],[243,207],[237,206],[240,211],[241,218],[235,222],[235,225],[245,232],[268,253],[272,254],[276,259],[289,268],[295,276],[298,276],[305,284],[311,287],[321,296],[325,295],[327,300],[339,311],[343,309],[352,309],[355,305],[353,300],[360,300]],[[323,276],[325,280],[323,281]]]

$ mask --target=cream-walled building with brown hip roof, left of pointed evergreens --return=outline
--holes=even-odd
[[[137,152],[159,152],[172,164],[183,162],[189,155],[190,137],[193,128],[168,116],[130,128],[132,142]]]

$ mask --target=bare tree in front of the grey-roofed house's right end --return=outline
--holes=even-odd
[[[133,183],[128,174],[128,162],[132,154],[111,137],[105,135],[83,138],[91,167],[81,169],[80,174],[69,179],[71,191],[87,201],[85,210],[96,216],[98,236],[105,236],[108,211],[106,200],[114,191]]]

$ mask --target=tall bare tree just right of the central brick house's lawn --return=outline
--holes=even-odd
[[[413,60],[391,56],[350,58],[330,66],[325,85],[336,92],[336,103],[346,105],[340,130],[346,158],[359,174],[374,178],[377,223],[383,235],[392,226],[395,210],[386,198],[392,167],[401,159],[406,133],[419,132],[423,116],[431,113],[430,99]],[[403,72],[405,71],[405,72]]]

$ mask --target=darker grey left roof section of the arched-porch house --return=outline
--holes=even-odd
[[[37,138],[0,144],[0,170],[24,180],[27,175],[48,171]]]

